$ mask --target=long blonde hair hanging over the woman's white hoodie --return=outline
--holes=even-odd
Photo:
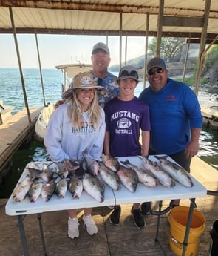
[[[78,100],[78,91],[81,89],[75,89],[72,91],[72,98],[69,99],[70,105],[68,108],[69,117],[72,119],[72,124],[80,128],[81,123],[84,121],[83,111],[81,102]],[[97,91],[94,89],[94,99],[89,104],[88,108],[89,122],[92,123],[93,127],[97,128],[99,125],[99,119],[101,116],[101,107],[98,105]]]

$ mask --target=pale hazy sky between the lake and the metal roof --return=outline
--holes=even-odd
[[[56,65],[84,62],[91,64],[92,47],[97,42],[106,43],[106,36],[37,36],[41,68],[55,68]],[[18,34],[18,47],[22,68],[38,68],[38,53],[34,34]],[[109,36],[108,44],[112,61],[119,64],[119,36]],[[126,38],[123,37],[122,61],[124,61]],[[144,54],[145,38],[129,37],[127,60]],[[0,68],[18,68],[18,59],[13,34],[0,34]]]

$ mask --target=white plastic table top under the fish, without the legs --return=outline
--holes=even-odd
[[[142,160],[138,157],[119,157],[118,160],[129,160],[130,163],[142,167]],[[151,160],[156,160],[149,157]],[[168,158],[171,160],[170,158]],[[157,161],[157,160],[156,160]],[[173,160],[171,160],[173,162]],[[26,176],[25,170],[21,175],[18,183],[24,180]],[[104,201],[98,203],[85,191],[82,192],[80,199],[74,199],[72,194],[67,190],[67,194],[64,198],[59,199],[56,194],[53,194],[48,202],[38,197],[35,203],[30,203],[28,196],[20,203],[14,203],[12,195],[10,196],[5,206],[5,212],[7,215],[24,215],[24,214],[36,214],[46,211],[61,211],[67,209],[80,209],[99,206],[112,206],[115,204],[129,204],[129,203],[142,203],[149,201],[159,200],[171,200],[171,199],[187,199],[196,197],[205,197],[207,195],[207,189],[202,186],[193,176],[191,176],[194,186],[186,188],[180,183],[176,182],[174,188],[166,188],[163,185],[157,185],[153,188],[146,187],[141,183],[138,183],[137,189],[134,193],[122,186],[119,191],[112,191],[109,186],[105,185]]]

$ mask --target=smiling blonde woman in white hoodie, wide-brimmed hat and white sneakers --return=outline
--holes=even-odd
[[[50,117],[44,145],[52,161],[80,160],[87,150],[92,158],[100,158],[105,134],[105,116],[98,105],[98,93],[106,88],[95,85],[90,73],[79,73],[72,82],[72,97],[60,105]],[[79,236],[77,209],[68,210],[68,235]],[[83,220],[87,232],[98,232],[92,209],[84,209]]]

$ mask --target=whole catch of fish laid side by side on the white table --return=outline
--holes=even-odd
[[[149,157],[140,157],[142,168],[128,159],[119,163],[115,157],[106,154],[101,155],[102,161],[99,162],[85,152],[82,160],[30,163],[26,167],[29,174],[13,191],[13,201],[21,202],[28,195],[30,202],[35,202],[41,195],[47,202],[54,193],[58,198],[64,198],[69,189],[73,198],[80,198],[84,190],[101,203],[104,200],[105,184],[114,191],[123,185],[132,193],[136,191],[138,183],[149,187],[162,184],[171,188],[177,180],[185,187],[193,186],[187,171],[171,163],[167,157],[156,157],[158,163],[149,160]]]

